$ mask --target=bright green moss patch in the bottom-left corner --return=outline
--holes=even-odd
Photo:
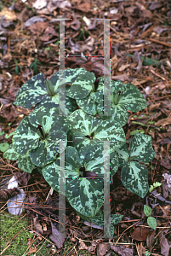
[[[3,249],[7,247],[2,255],[8,256],[21,256],[26,251],[29,239],[32,239],[34,235],[26,227],[31,224],[31,221],[28,218],[23,218],[20,221],[19,216],[10,215],[8,213],[0,214],[0,251],[3,252]],[[18,222],[17,222],[18,221]],[[14,238],[14,239],[13,239]],[[44,242],[44,241],[43,241]],[[39,245],[37,244],[37,239],[35,237],[35,242],[31,247],[37,247],[38,249],[43,245],[43,242]],[[37,256],[42,256],[48,252],[46,241],[37,253]]]

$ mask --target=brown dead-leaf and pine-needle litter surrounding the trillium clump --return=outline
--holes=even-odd
[[[54,19],[71,19],[66,20],[66,55],[70,55],[66,58],[66,68],[85,67],[97,77],[103,76],[103,57],[85,57],[103,55],[104,25],[103,20],[97,18],[117,19],[111,20],[111,78],[135,84],[145,96],[148,106],[138,113],[129,113],[124,131],[128,141],[135,131],[151,135],[157,154],[146,166],[149,184],[162,183],[153,193],[140,199],[123,187],[120,171],[116,173],[111,185],[111,213],[120,213],[124,217],[116,227],[111,247],[106,246],[109,240],[101,238],[103,230],[88,227],[66,204],[66,241],[71,244],[67,251],[65,245],[58,248],[63,245],[62,239],[56,241],[55,247],[50,247],[54,245],[49,238],[52,223],[58,222],[58,194],[48,194],[50,187],[36,169],[31,175],[23,174],[15,161],[5,160],[3,153],[0,153],[0,214],[7,214],[6,202],[18,193],[17,189],[7,189],[9,179],[15,175],[27,198],[24,211],[18,219],[26,215],[30,219],[26,230],[32,230],[35,235],[34,246],[29,247],[29,243],[27,245],[29,248],[26,253],[29,255],[114,255],[114,252],[116,255],[145,255],[145,251],[151,251],[151,255],[169,255],[170,8],[170,1],[0,1],[0,129],[4,131],[1,132],[0,143],[10,144],[11,137],[6,135],[13,132],[21,119],[30,113],[12,104],[20,86],[36,73],[44,73],[49,79],[59,70],[59,23]],[[162,176],[164,173],[165,179]],[[153,209],[152,216],[157,219],[157,230],[146,228],[148,225],[143,213],[145,204]],[[50,250],[47,254],[38,251],[40,241],[35,231],[40,234],[43,242],[45,238],[48,239]],[[60,235],[57,237],[60,240]],[[9,241],[13,241],[13,238],[9,236]],[[122,243],[127,245],[123,246]],[[6,254],[11,247],[9,244],[3,244],[4,253],[1,255],[9,255]],[[101,253],[102,249],[105,253]]]

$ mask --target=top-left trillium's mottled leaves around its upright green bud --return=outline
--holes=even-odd
[[[24,108],[31,108],[39,103],[37,104],[36,108],[40,108],[42,106],[48,108],[59,108],[59,85],[62,85],[62,83],[66,83],[66,85],[73,83],[75,79],[77,79],[77,76],[84,71],[84,68],[69,68],[55,73],[50,79],[52,86],[54,85],[54,96],[50,96],[48,94],[47,81],[45,80],[43,73],[38,73],[20,88],[14,105],[19,105]],[[65,80],[60,80],[60,77],[62,78],[63,76],[65,76]],[[68,96],[65,97],[65,102],[66,108],[64,108],[65,106],[63,105],[61,105],[60,108],[62,108],[63,112],[66,110],[66,114],[77,109],[76,102],[73,101],[73,99],[70,99]]]

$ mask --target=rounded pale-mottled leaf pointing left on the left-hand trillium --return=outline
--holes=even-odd
[[[26,154],[28,150],[38,147],[39,138],[35,131],[20,131],[13,136],[14,149],[19,154]]]

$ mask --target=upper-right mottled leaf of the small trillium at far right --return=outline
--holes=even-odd
[[[129,145],[130,156],[136,155],[135,160],[139,160],[144,163],[151,161],[156,153],[152,148],[152,139],[151,136],[136,133],[134,138],[131,140]]]

